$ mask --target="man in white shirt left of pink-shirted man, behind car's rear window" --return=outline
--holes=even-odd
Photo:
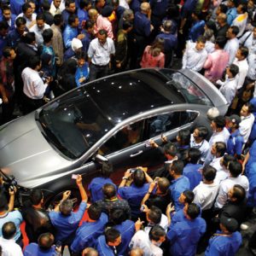
[[[200,36],[196,43],[188,41],[183,54],[183,68],[189,68],[194,71],[201,71],[207,60],[207,50],[205,49],[206,38]]]

